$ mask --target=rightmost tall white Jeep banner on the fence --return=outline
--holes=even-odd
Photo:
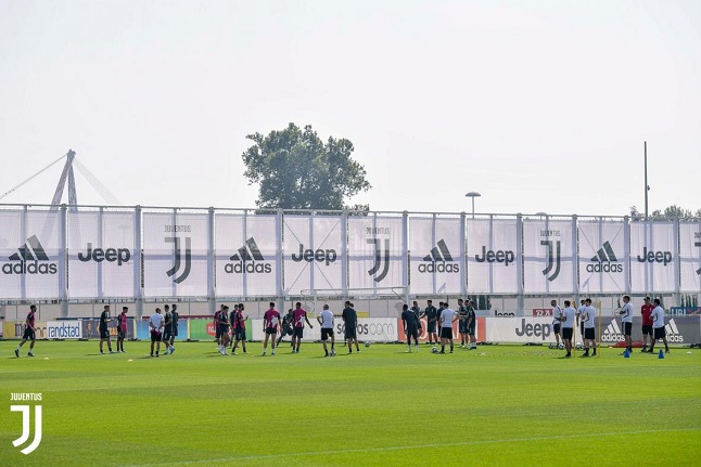
[[[676,236],[673,222],[630,223],[633,290],[675,291]]]

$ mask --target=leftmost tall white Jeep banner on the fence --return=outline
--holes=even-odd
[[[135,212],[68,211],[68,296],[136,297]]]

